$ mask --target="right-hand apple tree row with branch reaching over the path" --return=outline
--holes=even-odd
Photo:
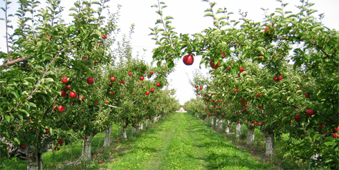
[[[203,1],[213,26],[192,35],[175,32],[164,2],[154,5],[160,15],[151,29],[158,44],[154,61],[174,66],[184,56],[190,65],[201,55],[200,64],[212,68],[209,79],[196,74],[192,82],[204,105],[196,100],[196,108],[186,110],[261,129],[271,145],[267,154],[273,154],[274,135],[288,133],[297,142],[286,145],[286,156],[338,169],[338,30],[313,16],[317,10],[308,1],[295,6],[297,13],[280,1],[272,14],[264,10],[263,22],[247,19],[246,12],[232,19],[226,8]]]

